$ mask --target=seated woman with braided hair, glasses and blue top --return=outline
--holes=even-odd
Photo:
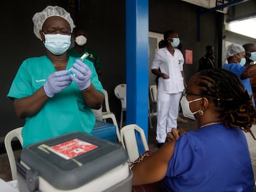
[[[239,78],[224,69],[202,70],[190,78],[181,106],[198,129],[173,128],[168,143],[132,168],[133,185],[162,180],[164,191],[253,191],[242,130],[252,134],[256,112]]]

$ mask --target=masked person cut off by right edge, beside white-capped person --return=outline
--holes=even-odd
[[[245,49],[245,67],[247,67],[247,78],[250,79],[250,85],[252,86],[252,93],[254,94],[254,101],[256,101],[256,65],[251,65],[256,61],[256,46],[253,43],[247,43],[243,45]]]

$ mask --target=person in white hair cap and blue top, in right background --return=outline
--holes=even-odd
[[[230,44],[226,49],[226,59],[228,64],[223,65],[223,69],[229,70],[237,75],[244,85],[244,89],[249,93],[250,98],[254,102],[252,86],[250,79],[247,77],[247,67],[245,67],[245,49],[240,44]],[[255,106],[255,102],[254,102]]]

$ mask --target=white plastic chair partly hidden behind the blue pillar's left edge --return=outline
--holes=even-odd
[[[126,111],[126,84],[119,84],[114,88],[114,94],[121,101],[121,119],[120,119],[120,129],[122,129],[122,120],[124,111]]]

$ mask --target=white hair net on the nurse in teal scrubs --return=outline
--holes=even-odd
[[[41,12],[37,12],[32,18],[34,23],[34,33],[37,38],[41,39],[39,31],[42,29],[43,23],[45,22],[45,20],[51,16],[59,16],[59,17],[62,17],[63,19],[66,19],[67,22],[69,22],[71,32],[73,31],[73,28],[75,28],[74,22],[70,17],[69,12],[67,12],[62,7],[47,6]]]

